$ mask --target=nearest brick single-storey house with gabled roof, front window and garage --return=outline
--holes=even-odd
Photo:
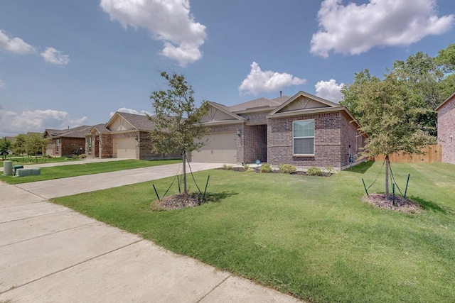
[[[298,92],[293,97],[255,99],[235,106],[209,102],[203,124],[206,144],[192,162],[331,166],[343,170],[365,145],[346,107]],[[350,162],[352,161],[352,162]]]

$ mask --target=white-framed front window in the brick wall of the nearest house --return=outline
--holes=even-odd
[[[292,154],[314,155],[314,120],[294,121],[292,124]]]

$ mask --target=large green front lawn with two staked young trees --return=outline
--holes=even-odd
[[[152,182],[53,201],[311,302],[454,302],[455,165],[392,163],[424,207],[406,214],[362,202],[361,178],[371,184],[381,164],[333,177],[198,172],[210,202],[177,211],[149,211]],[[153,184],[162,194],[171,180]]]

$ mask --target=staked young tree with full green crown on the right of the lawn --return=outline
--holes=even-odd
[[[357,89],[357,88],[356,88]],[[350,86],[343,89],[348,95]],[[356,111],[360,131],[368,134],[363,156],[374,158],[385,155],[385,198],[389,199],[389,155],[396,152],[422,153],[424,146],[436,143],[419,116],[429,109],[417,104],[419,97],[407,86],[405,79],[395,72],[380,81],[364,83],[358,89]]]

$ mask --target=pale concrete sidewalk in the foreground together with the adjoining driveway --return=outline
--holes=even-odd
[[[219,166],[191,163],[193,171]],[[0,182],[0,302],[300,302],[47,201],[177,168]]]

